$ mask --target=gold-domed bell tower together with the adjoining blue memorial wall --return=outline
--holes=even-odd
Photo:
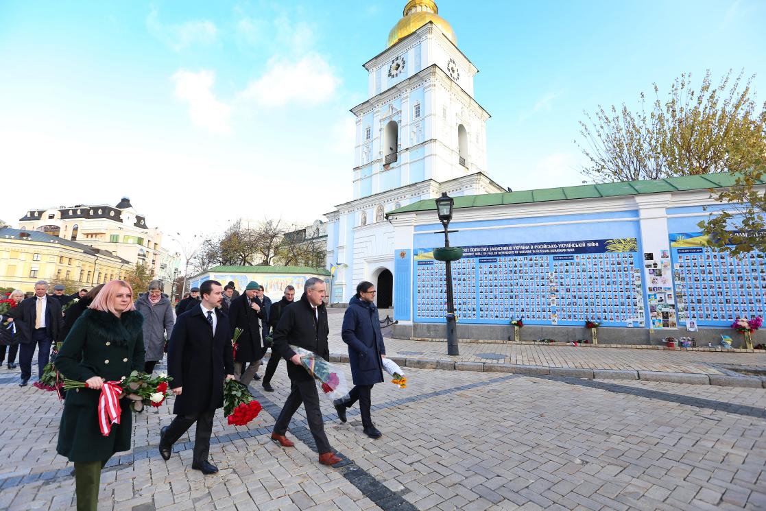
[[[365,64],[353,200],[327,214],[332,303],[356,284],[393,308],[394,336],[443,339],[446,277],[435,199],[454,198],[450,242],[457,334],[646,343],[687,330],[718,344],[736,317],[764,316],[766,254],[709,247],[699,222],[728,208],[732,175],[689,175],[512,192],[486,174],[489,113],[476,67],[432,0],[411,0],[385,51]],[[758,185],[766,191],[763,183]],[[735,344],[740,339],[735,339]]]

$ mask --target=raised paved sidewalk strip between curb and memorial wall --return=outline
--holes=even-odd
[[[330,351],[348,351],[340,336],[342,309],[329,310]],[[387,329],[388,330],[388,329]],[[658,349],[594,348],[529,344],[463,342],[460,355],[447,355],[445,342],[386,339],[388,355],[410,359],[444,359],[460,362],[497,362],[581,369],[632,369],[636,371],[735,374],[724,365],[760,365],[766,368],[766,353],[666,351]]]

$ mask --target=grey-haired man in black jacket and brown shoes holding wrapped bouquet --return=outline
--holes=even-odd
[[[290,395],[287,396],[280,416],[274,424],[271,439],[279,442],[283,447],[295,445],[285,437],[285,433],[287,426],[290,425],[290,419],[303,403],[303,408],[306,409],[306,420],[309,422],[309,429],[316,442],[316,450],[319,451],[319,463],[334,465],[341,459],[332,454],[327,440],[314,378],[301,364],[300,355],[289,346],[290,344],[300,346],[316,353],[322,359],[329,360],[330,352],[327,344],[329,327],[324,304],[326,284],[323,280],[312,277],[306,280],[303,289],[300,300],[287,307],[282,314],[273,336],[272,352],[292,363],[287,364]]]

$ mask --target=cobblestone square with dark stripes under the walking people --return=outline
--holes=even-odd
[[[252,387],[257,421],[231,427],[219,412],[217,475],[191,470],[193,434],[159,457],[169,405],[135,415],[134,449],[103,471],[100,509],[766,509],[766,389],[407,372],[408,388],[375,386],[377,441],[358,408],[341,424],[322,400],[338,468],[317,463],[302,408],[296,448],[268,440],[284,363],[277,391]],[[61,405],[17,382],[0,371],[0,509],[73,509],[71,465],[55,454]]]

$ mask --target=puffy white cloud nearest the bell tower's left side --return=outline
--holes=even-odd
[[[240,97],[254,100],[260,106],[316,105],[329,100],[339,83],[319,54],[309,54],[298,61],[277,58],[270,62],[262,77],[250,82]]]

